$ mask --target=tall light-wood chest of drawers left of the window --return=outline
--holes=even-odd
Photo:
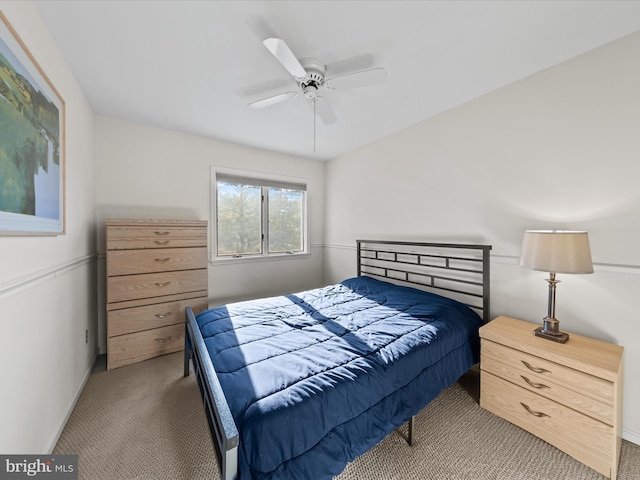
[[[108,219],[107,368],[184,348],[184,310],[208,306],[207,222]]]

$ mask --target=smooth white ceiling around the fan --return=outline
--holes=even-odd
[[[640,1],[35,1],[96,113],[329,159],[640,29]],[[386,82],[315,125],[263,46]]]

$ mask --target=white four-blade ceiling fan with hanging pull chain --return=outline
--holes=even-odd
[[[374,85],[384,82],[387,77],[387,72],[381,67],[328,77],[327,65],[317,58],[298,60],[284,40],[270,37],[263,40],[262,43],[294,78],[298,84],[298,90],[278,93],[262,100],[251,102],[249,103],[251,108],[268,107],[302,94],[311,102],[315,113],[320,119],[326,125],[330,125],[337,121],[337,117],[325,98],[320,96],[319,92],[321,90],[331,91],[334,89]]]

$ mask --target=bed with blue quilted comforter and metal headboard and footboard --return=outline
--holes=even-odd
[[[330,479],[478,362],[489,245],[358,240],[357,275],[187,307],[184,375],[224,480]]]

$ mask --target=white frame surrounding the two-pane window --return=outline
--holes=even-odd
[[[303,248],[302,251],[292,253],[269,253],[269,231],[268,231],[268,198],[262,202],[262,224],[261,229],[263,235],[262,253],[245,254],[240,256],[218,256],[218,177],[238,177],[247,180],[250,184],[253,182],[261,182],[265,186],[300,186],[304,187],[305,195],[303,200]],[[235,262],[252,262],[265,261],[283,258],[300,258],[309,256],[309,219],[308,219],[308,180],[298,177],[287,177],[284,175],[274,175],[264,172],[254,172],[248,170],[237,170],[230,168],[211,167],[211,211],[210,211],[210,237],[211,237],[211,255],[212,263],[235,263]]]

